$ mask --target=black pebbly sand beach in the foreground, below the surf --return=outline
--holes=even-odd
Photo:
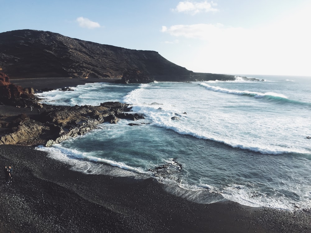
[[[311,232],[306,212],[193,203],[151,178],[72,171],[30,146],[1,145],[0,164],[14,171],[0,180],[0,232]]]

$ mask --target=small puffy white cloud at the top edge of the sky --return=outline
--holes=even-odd
[[[214,2],[190,2],[184,1],[179,2],[173,11],[177,12],[185,12],[192,15],[195,15],[200,12],[209,12],[209,11],[218,11],[218,9],[214,8],[217,4]]]

